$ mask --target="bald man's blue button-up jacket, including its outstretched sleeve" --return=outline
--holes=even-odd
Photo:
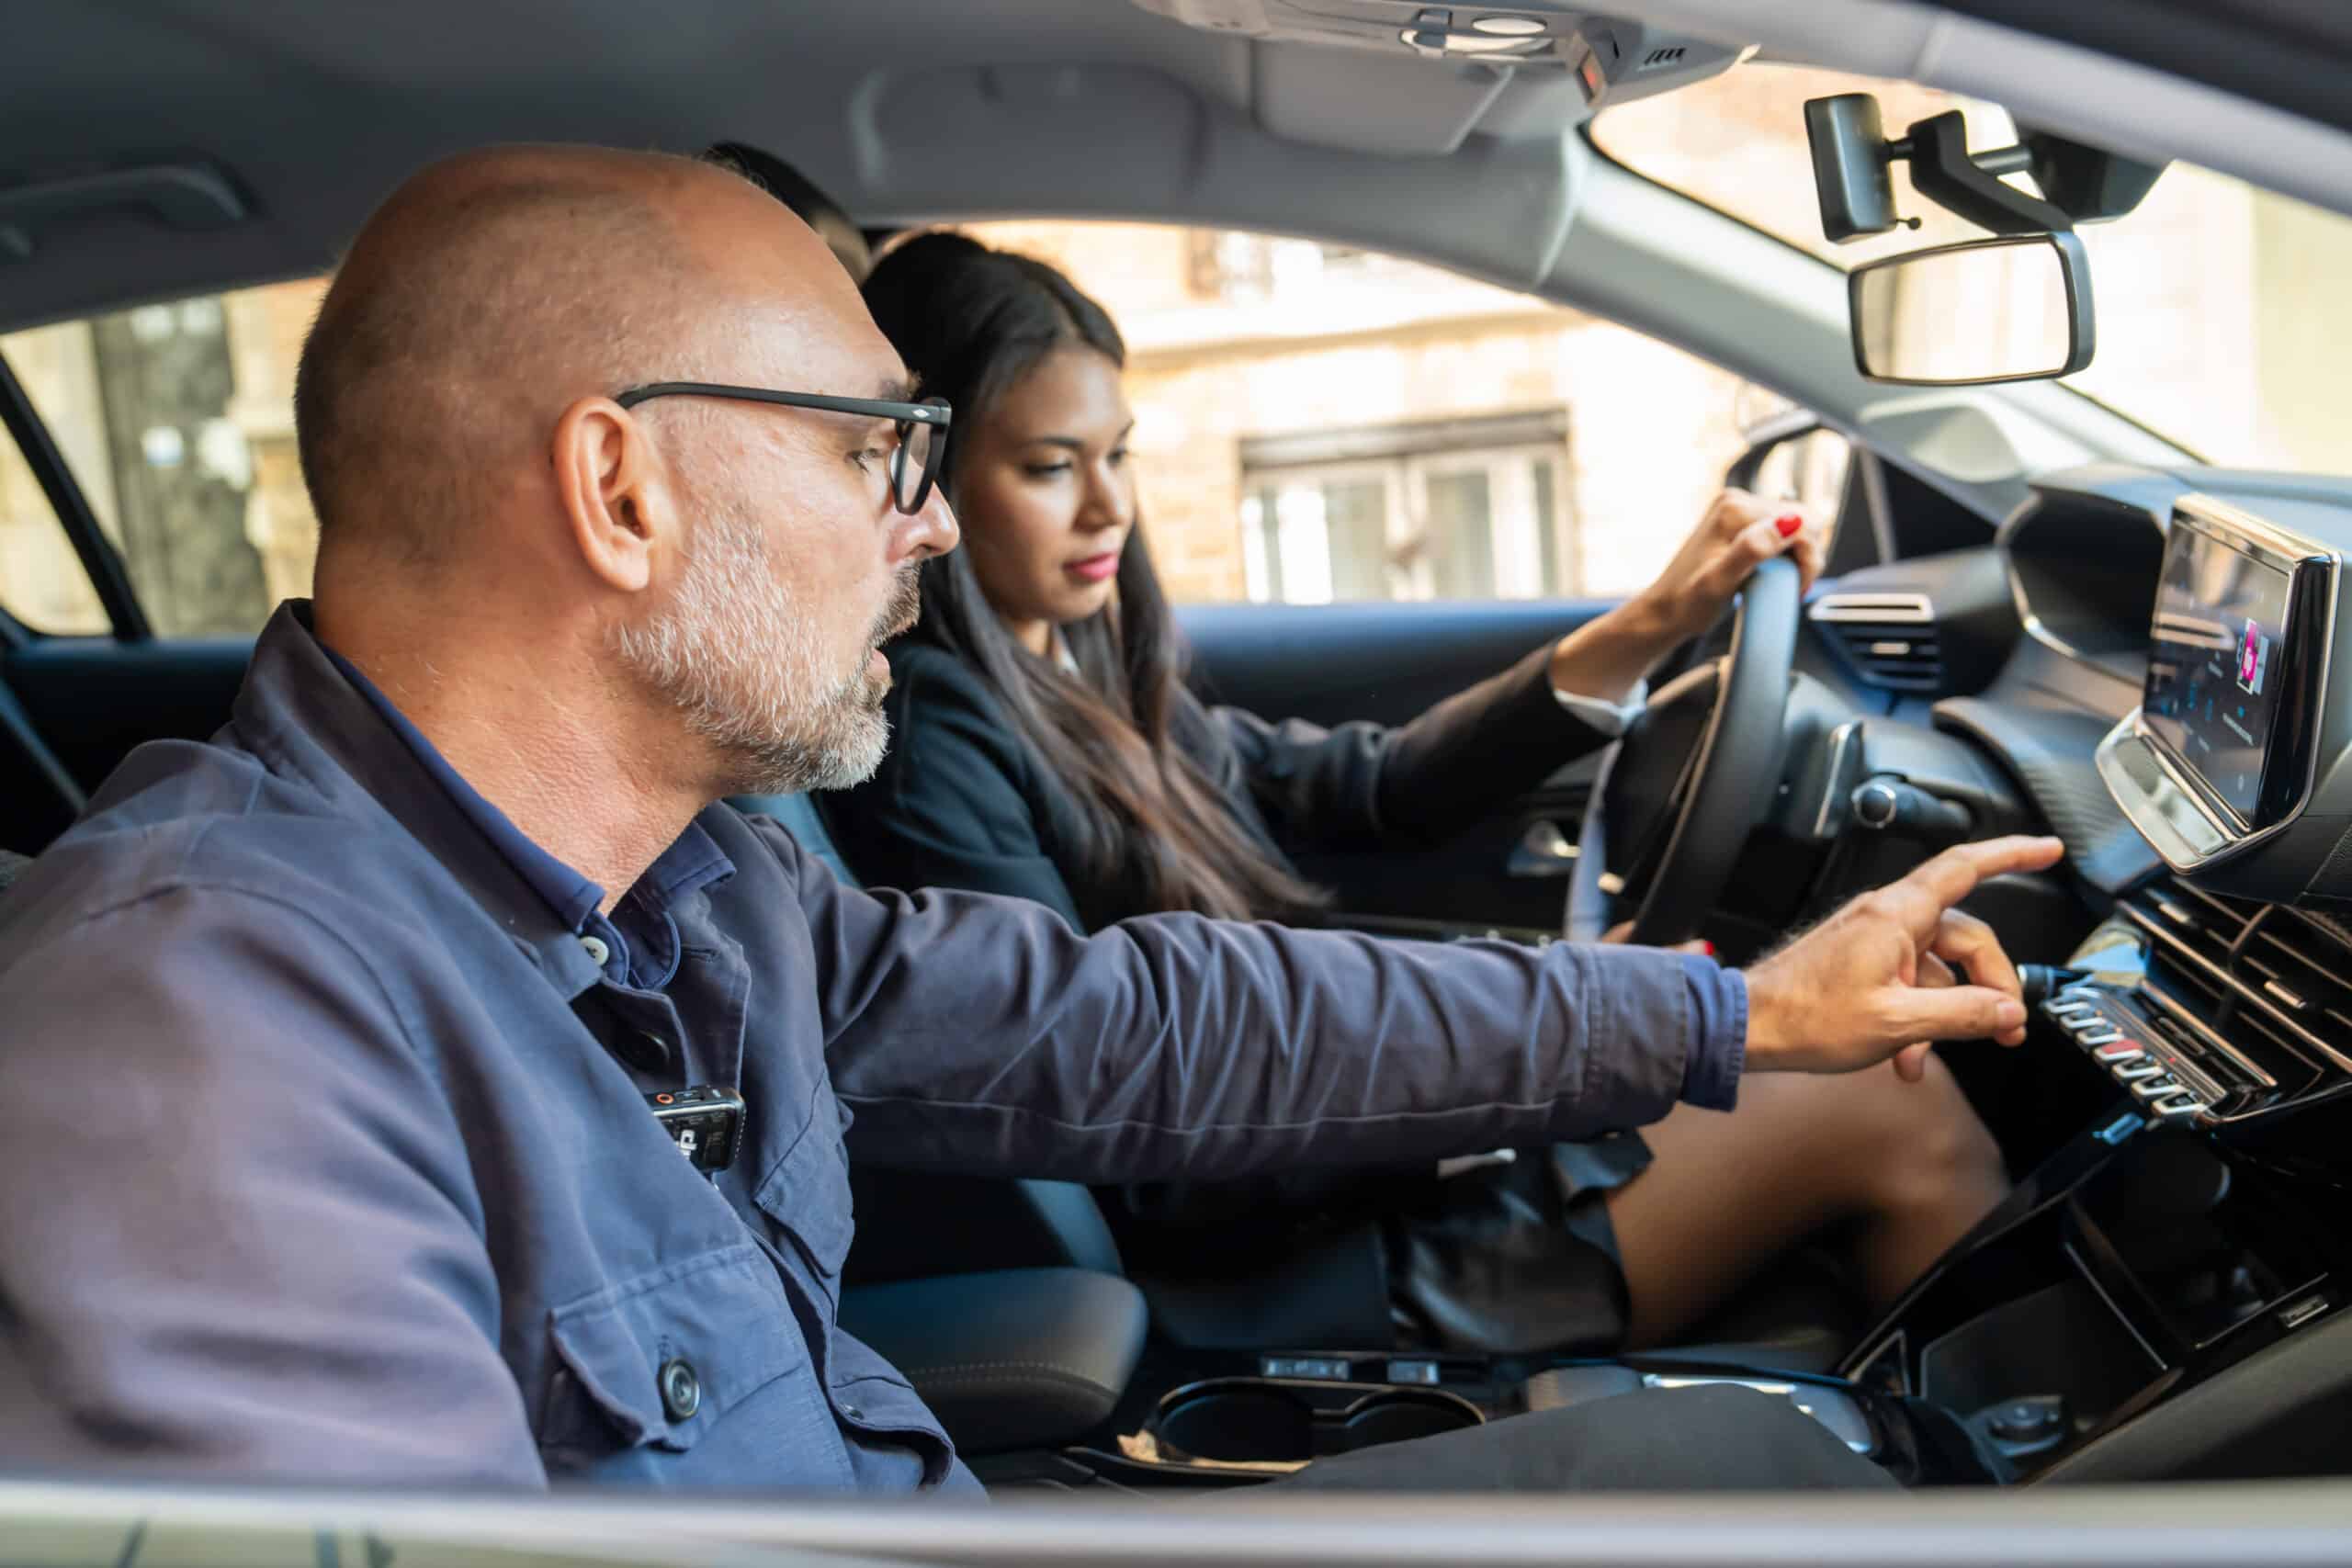
[[[1082,938],[844,889],[729,806],[597,903],[282,609],[230,724],[134,752],[0,900],[0,1467],[969,1488],[835,1326],[851,1147],[1435,1159],[1722,1105],[1745,1037],[1708,959]],[[748,1105],[715,1180],[644,1105],[689,1084]]]

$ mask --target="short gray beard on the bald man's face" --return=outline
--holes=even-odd
[[[913,625],[908,569],[873,644]],[[776,578],[760,527],[706,510],[677,592],[661,614],[612,635],[614,656],[684,717],[720,757],[724,795],[847,790],[873,778],[889,745],[887,679],[823,668],[823,649]]]

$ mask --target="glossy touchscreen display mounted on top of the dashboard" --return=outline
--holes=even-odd
[[[2244,818],[2263,797],[2291,588],[2286,569],[2185,522],[2164,541],[2140,715]]]

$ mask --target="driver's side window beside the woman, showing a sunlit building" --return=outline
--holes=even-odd
[[[1738,376],[1656,339],[1376,252],[971,233],[1061,266],[1120,322],[1143,522],[1178,599],[1623,595],[1698,522],[1755,414]],[[1806,496],[1837,477],[1771,470]]]

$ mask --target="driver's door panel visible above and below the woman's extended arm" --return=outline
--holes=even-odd
[[[1604,599],[1437,604],[1195,604],[1178,611],[1195,684],[1268,719],[1404,724],[1529,649],[1604,614]],[[1435,846],[1315,853],[1350,924],[1442,936],[1557,931],[1583,802],[1599,757],[1564,766],[1510,809]],[[1517,872],[1517,875],[1515,875]]]

